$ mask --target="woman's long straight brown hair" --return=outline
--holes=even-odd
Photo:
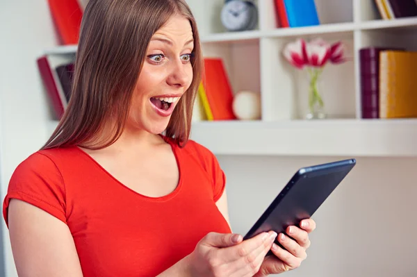
[[[179,146],[188,141],[203,63],[197,26],[186,2],[90,0],[81,22],[71,99],[42,149],[74,145],[101,149],[120,137],[149,41],[174,14],[186,17],[193,29],[193,81],[179,100],[165,135]],[[116,120],[114,130],[97,142],[111,118]]]

